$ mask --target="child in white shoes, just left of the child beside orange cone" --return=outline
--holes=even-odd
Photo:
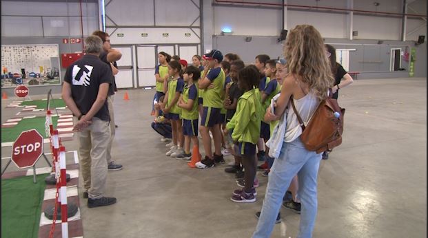
[[[165,113],[165,118],[171,120],[172,143],[167,144],[170,147],[170,151],[166,153],[167,156],[171,157],[176,157],[176,155],[184,153],[181,108],[176,105],[179,102],[184,87],[184,81],[183,78],[180,78],[180,72],[181,65],[179,61],[170,61],[168,63],[168,74],[172,76],[172,79],[168,82],[168,90],[164,98],[165,108],[162,111]]]

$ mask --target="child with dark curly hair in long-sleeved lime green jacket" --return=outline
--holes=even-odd
[[[260,135],[261,102],[256,92],[260,73],[249,65],[238,73],[238,87],[244,91],[239,98],[236,112],[227,123],[225,134],[232,131],[232,140],[238,144],[238,155],[245,169],[243,189],[236,189],[230,198],[233,202],[256,202],[256,144]]]

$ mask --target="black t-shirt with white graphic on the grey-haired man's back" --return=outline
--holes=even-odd
[[[112,69],[99,57],[85,54],[67,68],[64,81],[70,83],[74,102],[81,113],[86,114],[96,100],[99,86],[102,83],[111,85]],[[107,100],[94,117],[105,121],[110,120]]]

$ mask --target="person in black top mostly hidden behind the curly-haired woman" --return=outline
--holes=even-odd
[[[327,56],[330,59],[330,65],[332,65],[332,73],[334,75],[334,87],[332,87],[332,94],[334,99],[338,99],[339,89],[346,87],[354,82],[352,77],[343,69],[340,63],[336,62],[336,48],[332,45],[325,45],[327,50]],[[323,152],[323,160],[327,160],[329,158],[329,152]]]

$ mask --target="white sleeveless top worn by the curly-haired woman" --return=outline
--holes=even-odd
[[[296,105],[298,115],[300,115],[300,118],[302,118],[303,123],[306,126],[318,107],[320,100],[316,98],[313,93],[306,94],[303,98],[297,100],[293,98],[292,100],[294,100],[294,105]],[[302,134],[302,127],[299,125],[291,102],[288,102],[287,111],[287,128],[285,129],[284,141],[292,142]]]

